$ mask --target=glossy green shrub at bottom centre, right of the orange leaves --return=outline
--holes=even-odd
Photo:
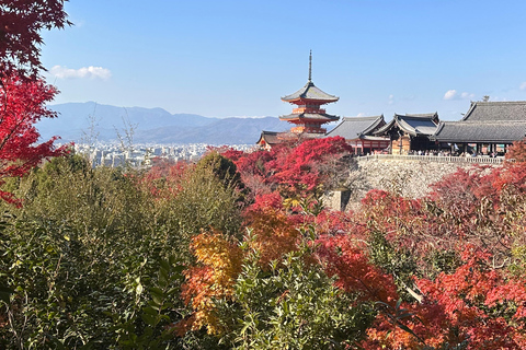
[[[318,264],[309,248],[290,253],[270,271],[250,254],[236,284],[236,303],[221,305],[233,329],[222,341],[236,349],[347,349],[365,336],[370,305],[353,304]],[[354,305],[354,306],[353,306]]]

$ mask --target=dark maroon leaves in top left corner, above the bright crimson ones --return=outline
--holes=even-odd
[[[0,3],[0,78],[12,73],[35,78],[44,69],[39,58],[39,45],[43,44],[39,32],[71,24],[64,2],[3,0]]]

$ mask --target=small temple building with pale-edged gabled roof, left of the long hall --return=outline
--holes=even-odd
[[[410,154],[413,151],[435,150],[437,145],[430,138],[438,127],[438,114],[395,114],[391,121],[374,132],[388,137],[391,154]]]

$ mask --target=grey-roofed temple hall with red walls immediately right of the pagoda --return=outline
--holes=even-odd
[[[384,115],[376,117],[346,117],[343,118],[327,137],[342,137],[353,147],[358,155],[382,152],[389,148],[390,140],[374,133],[386,125]]]

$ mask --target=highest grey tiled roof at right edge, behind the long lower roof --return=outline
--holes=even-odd
[[[526,121],[526,101],[472,102],[462,121]]]

